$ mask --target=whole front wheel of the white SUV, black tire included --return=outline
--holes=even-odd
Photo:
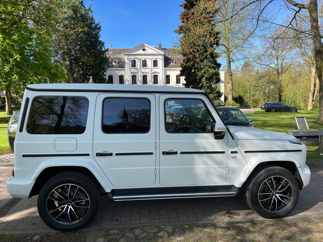
[[[271,177],[274,177],[272,183],[270,182]],[[286,179],[286,181],[283,181],[282,183],[278,182],[274,185],[276,180],[279,181],[279,179],[281,179],[281,182],[284,179]],[[278,188],[278,191],[280,191],[281,188],[286,188],[283,192],[273,193],[270,189],[265,191],[265,187],[270,189]],[[259,195],[265,193],[267,194]],[[272,195],[269,195],[270,193],[272,193]],[[264,218],[281,218],[286,216],[296,206],[298,196],[299,187],[296,178],[291,172],[280,166],[260,167],[253,172],[251,177],[249,177],[244,189],[244,198],[249,208]]]

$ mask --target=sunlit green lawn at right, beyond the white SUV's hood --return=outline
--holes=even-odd
[[[252,125],[256,128],[273,130],[285,133],[288,130],[297,130],[295,117],[306,117],[309,129],[323,129],[323,124],[318,123],[318,111],[300,110],[298,112],[265,112],[258,110],[254,113],[246,113],[247,117],[253,118]],[[307,147],[308,160],[323,160],[318,154],[317,146]]]

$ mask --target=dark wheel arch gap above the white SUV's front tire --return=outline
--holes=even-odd
[[[293,161],[264,161],[264,162],[260,162],[253,167],[253,169],[251,170],[251,172],[249,173],[247,178],[242,182],[242,185],[240,187],[243,187],[247,183],[247,181],[251,177],[254,176],[255,173],[259,172],[259,170],[263,169],[264,167],[268,167],[268,166],[280,166],[280,167],[287,169],[289,172],[291,172],[294,175],[294,177],[297,180],[299,189],[302,190],[304,183],[303,183],[302,177],[298,171],[297,165]]]

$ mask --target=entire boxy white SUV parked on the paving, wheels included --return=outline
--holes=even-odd
[[[94,218],[101,191],[122,201],[240,190],[251,209],[279,218],[310,180],[306,146],[295,137],[228,127],[207,93],[179,87],[29,85],[14,154],[8,192],[39,195],[40,217],[65,231]]]

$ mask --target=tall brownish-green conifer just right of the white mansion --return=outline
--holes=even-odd
[[[214,26],[217,8],[212,0],[186,0],[180,6],[184,10],[180,15],[181,25],[175,32],[182,35],[179,41],[183,55],[181,76],[185,77],[185,87],[203,89],[212,98],[212,82],[220,82],[221,67],[216,52],[219,32]],[[219,90],[216,96],[221,96]]]

